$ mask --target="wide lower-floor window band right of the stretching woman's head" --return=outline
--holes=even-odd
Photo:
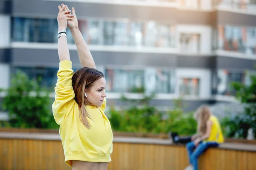
[[[146,68],[145,70],[106,69],[106,91],[119,93],[174,93],[173,70]]]

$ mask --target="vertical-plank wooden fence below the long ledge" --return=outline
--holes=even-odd
[[[108,170],[183,170],[188,165],[181,145],[113,142]],[[255,170],[256,152],[212,148],[199,159],[199,170]],[[71,170],[60,140],[0,137],[0,170]]]

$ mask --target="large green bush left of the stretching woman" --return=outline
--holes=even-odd
[[[9,113],[9,124],[19,128],[58,128],[51,114],[49,91],[18,71],[5,91],[3,110]]]

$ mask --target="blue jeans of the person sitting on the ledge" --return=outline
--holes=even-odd
[[[218,147],[218,145],[219,144],[216,142],[200,142],[197,147],[195,147],[194,142],[189,142],[186,144],[189,162],[193,165],[194,170],[198,170],[198,157],[209,147]]]

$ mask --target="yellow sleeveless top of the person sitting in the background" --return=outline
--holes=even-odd
[[[204,142],[217,142],[223,143],[224,136],[221,131],[221,125],[216,116],[210,116],[209,120],[212,121],[212,129],[208,139],[205,139]]]

